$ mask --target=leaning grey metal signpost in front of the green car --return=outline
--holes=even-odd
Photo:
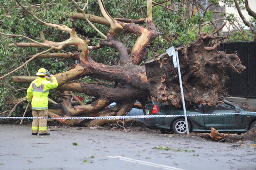
[[[175,51],[174,47],[172,46],[171,48],[168,48],[166,50],[166,52],[169,56],[172,56],[172,62],[173,62],[174,67],[175,68],[178,67],[178,74],[179,74],[179,80],[180,80],[180,90],[181,90],[181,97],[182,97],[182,105],[183,105],[183,111],[184,111],[184,115],[185,115],[185,123],[186,123],[187,134],[189,135],[189,127],[188,127],[188,123],[187,123],[187,113],[186,113],[186,106],[185,106],[183,87],[182,87],[182,81],[181,81],[178,51]]]

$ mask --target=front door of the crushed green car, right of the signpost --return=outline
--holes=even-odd
[[[239,113],[236,115],[219,115],[221,113],[236,113],[234,106],[220,103],[213,106],[204,105],[204,114],[214,114],[204,116],[205,127],[207,130],[215,129],[236,129],[239,126]]]

